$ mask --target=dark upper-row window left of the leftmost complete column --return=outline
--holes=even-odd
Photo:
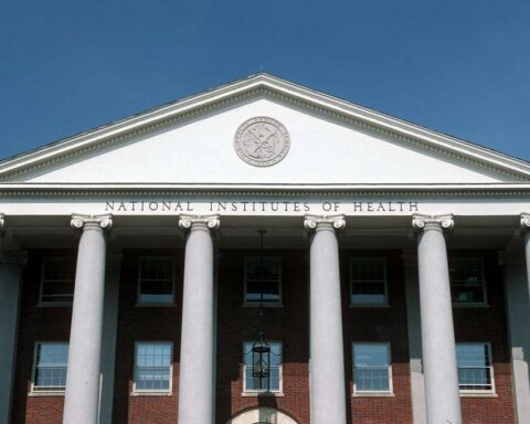
[[[41,304],[72,303],[75,257],[51,256],[42,262]]]

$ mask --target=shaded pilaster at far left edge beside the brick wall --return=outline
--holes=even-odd
[[[0,252],[0,423],[9,423],[13,391],[23,252]]]

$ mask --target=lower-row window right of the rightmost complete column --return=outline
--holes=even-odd
[[[494,371],[489,343],[457,343],[460,392],[494,392]]]

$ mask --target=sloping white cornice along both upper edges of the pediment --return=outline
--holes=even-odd
[[[130,118],[83,132],[0,162],[0,179],[13,178],[50,163],[60,162],[102,146],[116,142],[198,113],[231,104],[237,99],[269,94],[284,100],[317,109],[368,129],[417,144],[439,155],[495,170],[519,180],[530,180],[530,163],[484,147],[449,137],[414,124],[354,105],[267,74],[223,85],[183,98]]]

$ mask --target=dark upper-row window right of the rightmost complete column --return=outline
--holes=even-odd
[[[454,304],[484,304],[483,261],[478,258],[449,259],[451,297]]]

